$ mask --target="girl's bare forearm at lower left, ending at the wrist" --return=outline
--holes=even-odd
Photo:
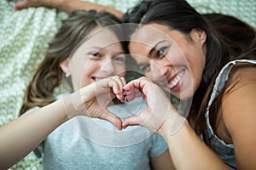
[[[0,127],[0,169],[20,161],[67,119],[60,99]]]

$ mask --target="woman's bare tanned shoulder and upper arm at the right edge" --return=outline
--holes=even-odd
[[[237,62],[232,65],[222,99],[221,111],[224,126],[236,144],[237,156],[246,157],[245,150],[254,144],[256,127],[256,64]],[[245,140],[246,139],[246,140]],[[241,147],[242,146],[242,147]],[[240,150],[243,148],[242,150]]]

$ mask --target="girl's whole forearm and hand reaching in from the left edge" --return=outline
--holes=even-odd
[[[124,100],[122,89],[125,83],[123,77],[102,79],[0,127],[0,169],[7,169],[20,161],[56,127],[73,116],[102,118],[121,129],[120,118],[107,107],[115,95]]]

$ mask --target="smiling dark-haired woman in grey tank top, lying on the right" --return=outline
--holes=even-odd
[[[143,96],[149,109],[123,126],[163,136],[177,169],[254,169],[255,43],[251,54],[228,60],[224,42],[185,1],[143,1],[126,17],[138,24],[130,29],[129,49],[145,77],[181,99],[189,115],[180,116],[143,77],[125,86],[125,99]]]

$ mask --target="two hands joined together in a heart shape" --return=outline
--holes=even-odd
[[[146,107],[139,108],[137,115],[124,116],[125,118],[122,119],[119,113],[128,108],[123,108],[119,113],[108,111],[109,103],[114,97],[124,102],[124,105],[142,98]],[[119,77],[102,79],[81,88],[78,93],[69,95],[66,105],[67,114],[81,112],[82,114],[77,115],[106,120],[119,130],[139,125],[148,128],[151,132],[156,132],[162,126],[169,114],[170,106],[172,107],[163,90],[145,77],[127,84],[122,83]]]

